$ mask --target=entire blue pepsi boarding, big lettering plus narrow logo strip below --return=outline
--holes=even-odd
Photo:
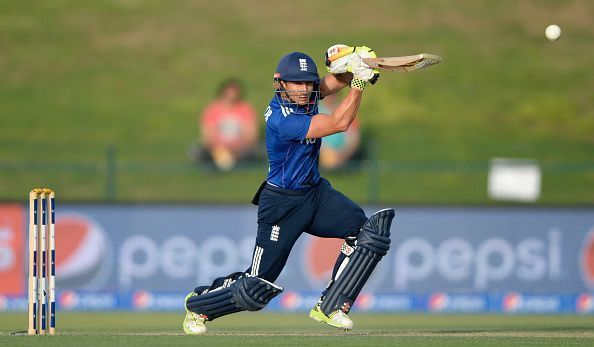
[[[58,309],[180,310],[194,287],[250,266],[256,225],[251,206],[64,204]],[[304,234],[268,309],[309,310],[341,243]],[[0,292],[0,310],[26,309],[22,282],[20,297]],[[594,209],[397,207],[354,310],[592,314],[593,293]]]

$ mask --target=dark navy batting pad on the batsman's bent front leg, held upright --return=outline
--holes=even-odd
[[[390,249],[393,218],[394,210],[385,209],[376,212],[365,222],[357,236],[357,248],[320,305],[326,316],[336,310],[349,313],[377,263]]]

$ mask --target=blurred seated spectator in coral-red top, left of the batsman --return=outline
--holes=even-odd
[[[256,112],[243,96],[240,81],[230,79],[221,84],[217,98],[200,116],[201,148],[192,151],[194,159],[212,161],[221,170],[232,169],[238,161],[255,159]]]

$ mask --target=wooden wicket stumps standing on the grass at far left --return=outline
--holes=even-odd
[[[56,333],[55,200],[51,189],[29,193],[29,335]]]

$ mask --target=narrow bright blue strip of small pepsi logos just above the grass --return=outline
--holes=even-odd
[[[182,292],[134,291],[125,293],[58,293],[58,311],[172,311],[183,312]],[[265,308],[276,312],[307,312],[318,301],[314,292],[287,291]],[[26,311],[23,297],[0,297],[1,311]],[[355,312],[383,313],[502,313],[502,314],[594,314],[594,294],[483,293],[459,294],[434,292],[361,293]]]

